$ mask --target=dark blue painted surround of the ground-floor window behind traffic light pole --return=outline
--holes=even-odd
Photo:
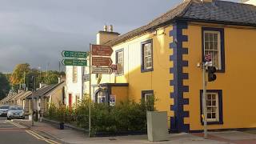
[[[207,122],[208,125],[214,125],[214,124],[223,124],[223,113],[222,113],[222,90],[206,90],[206,97],[207,93],[213,93],[218,95],[218,120],[217,121],[212,121],[212,122]],[[217,104],[216,103],[216,104]],[[203,114],[202,111],[202,90],[200,90],[200,119],[201,119],[201,124],[203,125],[202,117],[201,115]]]

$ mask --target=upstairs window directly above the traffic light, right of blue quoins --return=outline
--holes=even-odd
[[[225,71],[224,30],[218,28],[202,28],[203,55],[210,54],[212,66],[218,71]]]

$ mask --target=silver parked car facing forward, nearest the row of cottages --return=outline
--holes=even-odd
[[[10,120],[13,118],[25,118],[25,111],[22,109],[21,106],[10,106],[7,113],[7,119]]]

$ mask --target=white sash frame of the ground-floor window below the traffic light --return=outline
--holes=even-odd
[[[211,105],[208,106],[208,95],[211,94],[211,99],[210,99],[210,103]],[[213,106],[213,101],[212,101],[212,95],[215,95],[215,106]],[[203,106],[202,106],[203,107]],[[206,115],[207,115],[207,122],[219,122],[219,103],[218,103],[218,93],[206,93]],[[208,118],[208,114],[212,114],[213,111],[212,109],[210,109],[210,111],[208,111],[208,108],[214,108],[215,107],[215,118]],[[203,109],[202,109],[203,110]]]

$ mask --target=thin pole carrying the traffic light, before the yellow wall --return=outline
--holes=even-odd
[[[203,107],[203,132],[207,138],[207,108],[206,108],[206,63],[202,62],[202,107]]]

